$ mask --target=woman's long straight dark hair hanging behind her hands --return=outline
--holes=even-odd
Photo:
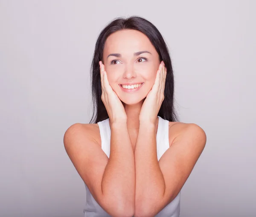
[[[178,116],[174,107],[174,78],[172,62],[166,43],[160,32],[151,22],[139,16],[131,16],[128,18],[117,17],[112,20],[102,30],[102,32],[100,32],[96,41],[93,61],[91,64],[93,116],[90,120],[90,123],[97,123],[109,118],[105,105],[101,99],[102,89],[99,73],[99,61],[102,61],[103,48],[108,36],[123,29],[134,29],[144,33],[156,49],[158,55],[160,56],[160,61],[164,61],[167,69],[166,84],[164,90],[165,98],[158,112],[158,116],[168,120],[169,122],[178,121]]]

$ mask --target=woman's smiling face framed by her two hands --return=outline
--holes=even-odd
[[[103,49],[103,63],[109,84],[119,99],[125,104],[137,104],[153,87],[160,60],[146,35],[137,30],[126,29],[107,38]],[[122,87],[122,84],[130,83],[138,84],[136,87],[142,85],[134,89]]]

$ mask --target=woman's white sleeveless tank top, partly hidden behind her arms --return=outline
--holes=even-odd
[[[102,150],[110,156],[110,137],[111,129],[109,118],[97,123],[99,125],[100,137],[102,141]],[[157,127],[157,159],[169,148],[169,121],[158,116]],[[85,184],[85,183],[84,183]],[[89,188],[86,188],[86,204],[84,208],[84,217],[111,217],[93,198]],[[171,203],[167,204],[155,217],[179,217],[180,216],[180,192]]]

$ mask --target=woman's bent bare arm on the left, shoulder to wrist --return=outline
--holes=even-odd
[[[131,217],[135,171],[126,124],[111,126],[109,159],[95,133],[90,124],[73,124],[64,135],[64,147],[96,202],[113,217]]]

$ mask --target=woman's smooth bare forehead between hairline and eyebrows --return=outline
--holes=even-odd
[[[125,29],[114,32],[107,38],[103,55],[113,52],[131,55],[134,52],[143,50],[147,50],[152,54],[157,53],[146,35],[137,30]]]

